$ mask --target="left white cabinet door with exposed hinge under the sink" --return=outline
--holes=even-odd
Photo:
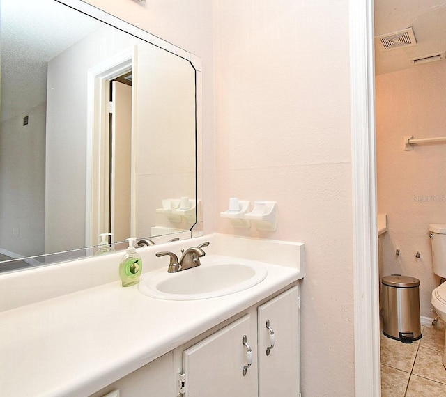
[[[193,345],[183,353],[185,396],[257,396],[256,332],[249,314]],[[243,336],[252,352],[247,353]],[[252,355],[252,366],[243,375],[243,366]]]

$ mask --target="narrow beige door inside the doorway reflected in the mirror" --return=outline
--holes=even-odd
[[[109,232],[114,241],[130,237],[132,180],[132,86],[112,81]]]

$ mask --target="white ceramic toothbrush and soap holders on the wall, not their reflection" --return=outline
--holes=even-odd
[[[262,231],[277,230],[277,202],[254,201],[254,208],[249,211],[251,201],[229,198],[228,209],[220,212],[220,217],[229,219],[235,228],[254,227]]]

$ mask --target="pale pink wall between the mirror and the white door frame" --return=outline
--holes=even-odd
[[[306,244],[302,395],[354,396],[348,1],[89,3],[203,59],[205,231]],[[233,229],[232,196],[277,232]]]

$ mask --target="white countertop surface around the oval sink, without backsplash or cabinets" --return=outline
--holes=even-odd
[[[3,311],[0,395],[87,396],[303,276],[263,265],[261,283],[212,299],[153,299],[116,281]]]

